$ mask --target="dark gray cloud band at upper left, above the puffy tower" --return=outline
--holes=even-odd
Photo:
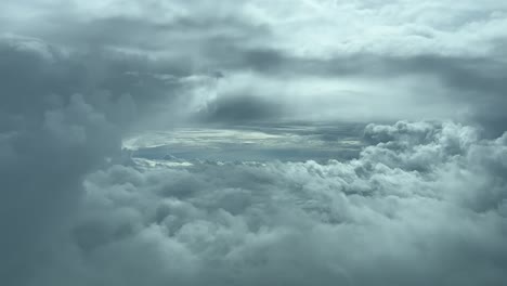
[[[39,114],[52,104],[65,104],[81,93],[96,105],[131,96],[142,110],[150,102],[176,98],[178,82],[151,75],[185,75],[152,64],[143,56],[98,50],[66,55],[58,48],[34,38],[6,37],[1,41],[2,110]],[[186,74],[188,75],[188,74]],[[102,92],[96,94],[96,92]],[[108,93],[108,94],[107,94]],[[104,106],[100,106],[104,107]],[[39,110],[35,110],[38,108]]]

